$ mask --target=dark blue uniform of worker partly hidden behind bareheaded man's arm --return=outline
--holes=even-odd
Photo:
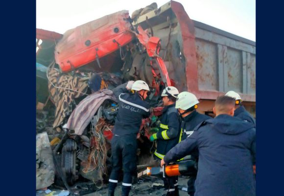
[[[181,123],[182,140],[185,140],[187,137],[189,137],[193,133],[194,128],[198,124],[202,123],[203,121],[205,121],[207,119],[211,119],[211,117],[204,115],[204,114],[200,114],[200,113],[196,112],[196,110],[194,110],[188,116],[183,118],[182,123]],[[190,155],[191,155],[190,159],[198,161],[198,150],[197,149],[192,151],[192,153]],[[190,196],[194,196],[195,179],[196,179],[196,175],[192,175],[192,176],[189,177],[188,194]]]

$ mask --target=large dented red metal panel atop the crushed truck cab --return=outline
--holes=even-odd
[[[69,72],[129,43],[134,34],[126,19],[128,11],[123,10],[68,30],[55,49],[56,63]]]

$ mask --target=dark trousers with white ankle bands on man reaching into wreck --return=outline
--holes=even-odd
[[[112,139],[112,172],[110,182],[118,182],[118,175],[123,170],[122,186],[131,187],[132,176],[136,175],[136,134],[118,136]]]

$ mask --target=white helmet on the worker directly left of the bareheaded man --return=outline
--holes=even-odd
[[[192,93],[187,91],[181,92],[176,99],[175,108],[187,110],[199,103],[198,99]]]

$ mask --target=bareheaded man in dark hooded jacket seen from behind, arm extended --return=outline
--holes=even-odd
[[[256,155],[256,130],[252,123],[234,118],[235,99],[221,96],[213,112],[216,118],[196,127],[161,161],[178,160],[198,148],[195,196],[255,196],[252,157]]]

